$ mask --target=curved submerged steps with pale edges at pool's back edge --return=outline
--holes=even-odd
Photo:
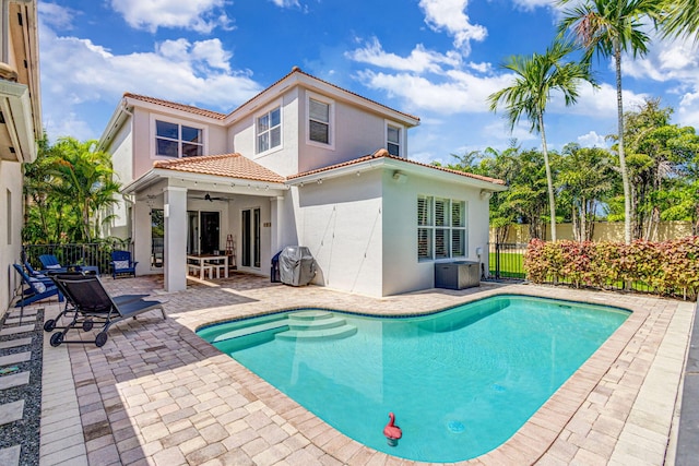
[[[288,328],[275,335],[280,339],[340,339],[357,333],[357,327],[347,324],[332,312],[310,310],[288,315]]]

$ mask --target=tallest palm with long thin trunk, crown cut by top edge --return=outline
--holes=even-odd
[[[571,0],[559,0],[566,4]],[[643,20],[655,17],[657,0],[587,0],[564,12],[560,34],[572,31],[584,49],[584,61],[592,56],[613,57],[616,69],[616,104],[619,169],[624,184],[624,239],[631,242],[631,194],[624,154],[624,106],[621,104],[621,52],[633,58],[648,52],[650,37],[642,29]]]

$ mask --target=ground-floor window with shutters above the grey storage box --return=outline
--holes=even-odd
[[[424,215],[420,215],[420,200],[425,207]],[[438,204],[442,205],[442,217],[438,218]],[[460,225],[454,225],[454,205],[461,207]],[[469,251],[469,204],[458,199],[437,198],[434,195],[419,194],[416,200],[417,208],[417,248],[416,254],[419,262],[440,261],[446,259],[463,259]],[[422,220],[420,222],[420,217]],[[440,222],[441,220],[441,222]],[[455,246],[454,235],[461,234],[461,251],[453,251]],[[425,246],[420,247],[420,241]],[[424,250],[424,251],[423,251]]]

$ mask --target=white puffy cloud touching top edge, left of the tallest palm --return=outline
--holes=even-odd
[[[425,22],[434,31],[447,31],[454,38],[454,47],[464,55],[471,51],[471,40],[485,39],[487,29],[471,24],[465,13],[469,0],[420,0],[419,7],[425,12]]]

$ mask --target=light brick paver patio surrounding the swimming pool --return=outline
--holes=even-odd
[[[45,334],[42,465],[416,464],[346,438],[193,332],[295,307],[404,314],[501,292],[633,313],[508,442],[463,464],[673,464],[694,303],[530,285],[374,299],[242,274],[176,294],[162,291],[162,277],[104,283],[115,295],[161,290],[167,319],[152,311],[121,322],[103,348],[54,348]],[[47,318],[57,313],[46,308]]]

